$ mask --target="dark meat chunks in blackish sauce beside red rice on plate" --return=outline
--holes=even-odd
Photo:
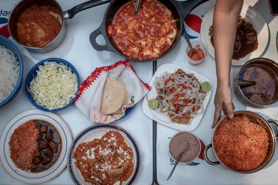
[[[61,152],[61,138],[57,129],[44,120],[34,120],[39,129],[39,156],[32,160],[36,166],[31,172],[40,172],[50,168],[58,159]]]

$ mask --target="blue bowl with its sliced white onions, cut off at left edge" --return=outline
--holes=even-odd
[[[0,35],[0,107],[18,93],[23,77],[23,63],[17,47]]]

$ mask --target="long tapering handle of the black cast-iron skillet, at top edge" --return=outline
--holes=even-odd
[[[197,6],[208,0],[187,0],[187,1],[173,1],[178,11],[180,12],[180,18],[184,20],[186,16]]]

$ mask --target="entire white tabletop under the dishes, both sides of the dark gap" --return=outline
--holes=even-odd
[[[10,10],[17,0],[0,0],[0,11]],[[64,10],[72,8],[78,3],[85,0],[58,0]],[[215,0],[210,0],[204,3],[198,8],[204,8],[210,10],[214,5]],[[263,57],[277,60],[276,50],[276,32],[278,29],[278,17],[270,14],[269,4],[266,0],[252,1],[248,0],[248,3],[254,6],[266,19],[270,29],[270,42],[267,51],[262,55]],[[96,67],[109,65],[118,60],[123,60],[119,55],[109,51],[96,51],[92,48],[89,42],[89,34],[94,31],[102,22],[104,12],[107,8],[107,4],[100,5],[98,7],[85,10],[78,13],[72,20],[67,21],[67,36],[60,47],[46,54],[36,54],[26,51],[24,48],[19,47],[24,62],[24,75],[23,84],[27,73],[31,67],[45,59],[50,57],[63,58],[71,62],[77,69],[81,80],[84,80]],[[197,9],[198,9],[197,8]],[[197,11],[196,9],[196,11]],[[193,10],[194,12],[195,10]],[[205,15],[206,12],[203,12]],[[6,17],[0,15],[0,17]],[[1,26],[1,25],[0,25]],[[197,38],[199,39],[199,38]],[[99,44],[104,44],[105,41],[101,36],[97,39]],[[165,63],[173,63],[196,71],[207,77],[211,82],[216,82],[215,75],[215,61],[211,56],[207,56],[206,60],[199,66],[191,66],[186,59],[185,48],[187,44],[183,38],[176,46],[176,48],[166,57],[157,61],[157,67]],[[145,82],[149,83],[152,77],[152,62],[148,63],[136,63],[131,62],[134,69],[138,73],[139,77]],[[239,67],[232,67],[231,78],[235,77]],[[208,104],[208,108],[204,113],[203,119],[199,126],[193,131],[197,136],[204,141],[205,145],[211,142],[211,136],[213,129],[211,129],[211,123],[213,121],[213,96],[216,90],[216,83],[212,83],[212,96]],[[270,108],[263,110],[256,110],[244,106],[240,103],[233,92],[233,102],[236,109],[247,109],[255,112],[262,112],[265,118],[268,116],[272,119],[277,119],[277,106],[275,103]],[[28,101],[25,95],[24,86],[17,97],[8,105],[0,108],[0,132],[5,127],[6,123],[15,115],[34,108]],[[71,129],[73,138],[85,127],[92,125],[93,123],[88,121],[85,116],[73,105],[69,108],[57,113],[60,115]],[[115,124],[120,125],[127,129],[137,140],[141,153],[142,153],[142,168],[140,175],[135,184],[151,184],[153,178],[153,158],[152,158],[152,120],[149,119],[142,111],[142,101],[140,101],[133,112],[121,121],[117,121]],[[198,160],[200,162],[197,166],[178,165],[176,171],[181,171],[182,174],[173,176],[169,181],[166,179],[171,171],[170,157],[167,150],[169,138],[177,132],[175,129],[171,129],[164,125],[157,123],[157,177],[159,184],[277,184],[276,171],[278,169],[278,163],[275,163],[278,159],[276,153],[273,157],[271,164],[267,168],[261,170],[258,173],[250,175],[239,175],[226,170],[223,166],[209,166],[205,161]],[[213,159],[213,154],[210,153],[210,157]],[[167,158],[167,160],[164,160]],[[275,164],[274,164],[275,163]],[[166,166],[166,167],[165,167]],[[0,184],[22,184],[21,182],[14,180],[6,171],[3,166],[0,165]],[[67,169],[65,169],[58,177],[45,183],[45,184],[73,184],[69,177]]]

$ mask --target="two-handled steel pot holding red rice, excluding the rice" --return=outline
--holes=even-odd
[[[224,167],[226,167],[228,170],[231,170],[233,172],[236,172],[236,173],[243,173],[243,174],[246,174],[246,173],[254,173],[254,172],[257,172],[259,170],[261,170],[262,168],[264,168],[264,166],[266,166],[266,164],[268,164],[272,158],[272,156],[274,155],[275,153],[275,149],[276,149],[276,140],[278,139],[278,134],[275,136],[274,134],[274,131],[272,129],[272,127],[270,126],[269,123],[274,123],[277,127],[278,127],[278,122],[275,121],[275,120],[266,120],[264,119],[263,117],[261,117],[259,114],[255,113],[255,112],[252,112],[252,111],[248,111],[248,110],[238,110],[238,111],[235,111],[234,112],[235,116],[243,116],[245,115],[246,117],[249,118],[249,120],[252,122],[252,123],[255,123],[255,124],[259,124],[257,120],[261,120],[262,121],[262,124],[263,126],[265,127],[266,129],[266,132],[268,133],[268,136],[269,136],[269,148],[268,148],[268,153],[267,153],[267,156],[265,158],[265,160],[261,163],[261,165],[259,165],[256,169],[252,170],[252,171],[236,171],[236,170],[233,170],[233,169],[230,169],[229,167],[227,167],[224,163],[222,163],[220,161],[220,159],[217,157],[216,155],[216,152],[215,152],[215,149],[214,149],[214,143],[213,143],[213,137],[214,137],[214,134],[215,134],[215,130],[217,129],[218,125],[225,119],[227,118],[228,116],[224,116],[218,123],[217,125],[215,126],[215,129],[213,131],[213,134],[212,134],[212,143],[207,145],[203,151],[203,155],[204,155],[204,159],[206,160],[207,163],[211,164],[211,165],[217,165],[217,164],[222,164]],[[213,153],[214,155],[216,156],[217,160],[218,161],[211,161],[209,160],[208,158],[208,155],[207,155],[207,151],[209,148],[213,149]]]

